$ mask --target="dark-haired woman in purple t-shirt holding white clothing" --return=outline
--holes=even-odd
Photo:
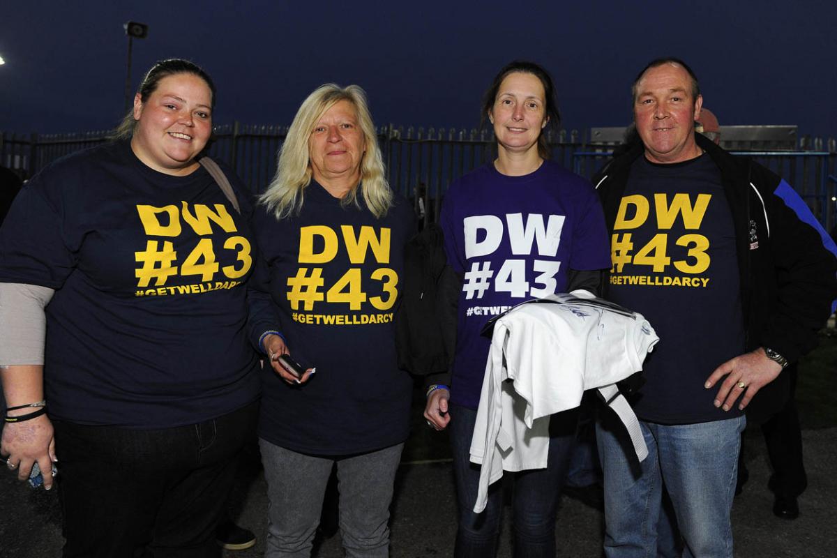
[[[531,62],[507,64],[485,92],[482,117],[493,126],[497,157],[450,185],[440,219],[448,264],[463,279],[453,379],[429,376],[424,409],[431,427],[450,429],[458,558],[496,555],[501,525],[501,483],[490,486],[485,510],[473,511],[480,466],[470,463],[470,444],[490,348],[480,335],[491,317],[485,310],[499,314],[502,306],[577,288],[596,292],[610,265],[593,187],[548,160],[547,130],[557,128],[559,116],[547,71]],[[577,423],[578,409],[552,415],[547,468],[513,475],[517,556],[555,555],[557,501]]]

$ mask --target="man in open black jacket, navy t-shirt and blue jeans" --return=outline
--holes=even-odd
[[[837,247],[787,182],[696,134],[703,99],[682,60],[650,62],[632,98],[642,142],[593,181],[612,233],[604,296],[660,343],[629,397],[649,457],[630,459],[611,417],[598,422],[604,551],[656,553],[665,484],[684,555],[732,557],[745,409],[781,408],[788,364],[833,311]]]

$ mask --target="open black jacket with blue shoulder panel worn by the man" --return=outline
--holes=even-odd
[[[747,351],[764,346],[798,361],[816,346],[816,334],[837,298],[837,257],[824,245],[827,235],[813,216],[807,217],[814,223],[806,223],[788,205],[804,202],[781,177],[700,134],[696,141],[720,169],[732,212]],[[643,153],[644,146],[635,145],[593,178],[610,231],[630,167]],[[605,281],[605,298],[607,289]],[[772,415],[788,392],[788,375],[780,374],[753,398],[748,415],[756,422]]]

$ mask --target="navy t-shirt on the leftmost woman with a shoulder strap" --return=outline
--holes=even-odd
[[[64,157],[0,229],[0,281],[55,289],[46,308],[51,417],[173,427],[259,397],[247,339],[251,206],[203,167],[157,172],[126,142]]]

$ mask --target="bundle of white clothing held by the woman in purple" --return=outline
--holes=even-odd
[[[485,509],[488,486],[504,469],[546,468],[549,416],[578,407],[588,389],[599,389],[644,459],[639,422],[615,383],[642,370],[658,340],[642,315],[585,290],[529,300],[499,316],[470,447],[470,460],[482,463],[474,511]]]

